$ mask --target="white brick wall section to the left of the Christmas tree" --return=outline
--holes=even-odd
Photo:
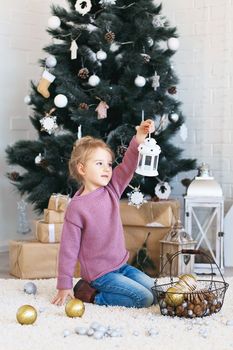
[[[29,109],[24,96],[30,80],[38,81],[41,68],[38,60],[44,57],[42,48],[50,38],[46,33],[51,16],[51,0],[0,0],[0,250],[17,235],[17,201],[19,195],[9,184],[5,174],[15,169],[5,162],[5,148],[19,139],[35,138],[29,122]],[[59,0],[65,5],[65,0]],[[28,208],[32,220],[31,208]]]

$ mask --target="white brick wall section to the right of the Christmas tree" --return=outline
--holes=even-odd
[[[174,66],[180,77],[177,97],[183,102],[188,139],[176,137],[186,157],[207,162],[223,188],[227,201],[233,201],[233,90],[231,0],[163,2],[163,12],[176,25],[180,48]],[[182,177],[173,181],[173,195],[182,198]]]

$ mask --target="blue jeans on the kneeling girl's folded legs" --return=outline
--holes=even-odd
[[[136,308],[153,304],[153,285],[151,277],[128,264],[91,282],[91,286],[98,291],[95,304]]]

